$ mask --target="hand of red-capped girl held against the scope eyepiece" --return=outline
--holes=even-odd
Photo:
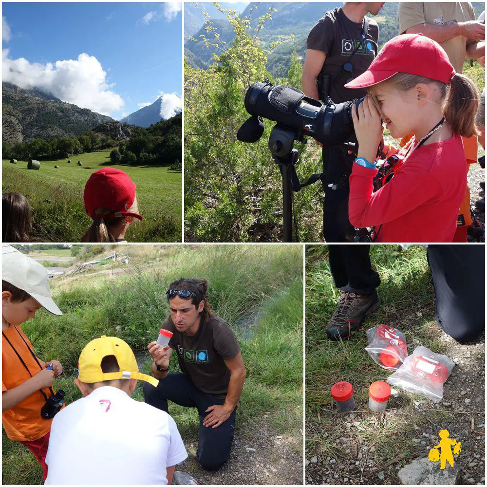
[[[353,105],[352,119],[358,141],[357,156],[373,162],[384,129],[380,122],[379,112],[377,112],[371,96],[367,95],[358,106],[358,109],[356,105]]]

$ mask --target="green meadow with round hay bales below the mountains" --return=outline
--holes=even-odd
[[[29,201],[33,241],[79,242],[91,225],[84,211],[83,189],[92,172],[111,166],[110,150],[80,154],[71,158],[71,164],[67,161],[41,161],[39,170],[28,170],[25,161],[10,164],[2,160],[2,192],[19,192]],[[127,240],[181,242],[182,174],[166,167],[118,167],[137,185],[139,210],[144,216],[144,221],[130,225]]]

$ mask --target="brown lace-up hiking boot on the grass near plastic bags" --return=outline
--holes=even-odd
[[[374,294],[359,295],[341,292],[337,308],[326,327],[326,334],[331,340],[347,340],[352,332],[362,326],[362,321],[379,307],[377,291]]]

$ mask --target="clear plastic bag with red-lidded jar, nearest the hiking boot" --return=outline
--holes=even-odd
[[[367,330],[369,344],[365,347],[372,360],[387,370],[397,370],[408,356],[406,337],[396,328],[377,325]]]

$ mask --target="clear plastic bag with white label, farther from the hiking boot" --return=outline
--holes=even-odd
[[[443,399],[443,384],[450,376],[454,362],[446,355],[435,354],[418,346],[387,382],[405,391],[428,397],[433,402]]]

